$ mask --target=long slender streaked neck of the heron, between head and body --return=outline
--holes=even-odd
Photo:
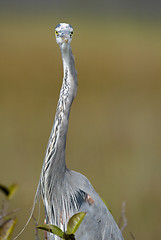
[[[63,84],[60,90],[54,125],[49,138],[45,159],[51,158],[52,169],[63,173],[66,169],[65,147],[68,119],[72,101],[77,92],[77,72],[71,46],[61,49],[63,61]],[[50,163],[51,163],[50,161]]]

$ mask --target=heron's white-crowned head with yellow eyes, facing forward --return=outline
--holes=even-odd
[[[56,42],[63,48],[68,45],[73,36],[73,28],[68,23],[59,23],[55,28]]]

